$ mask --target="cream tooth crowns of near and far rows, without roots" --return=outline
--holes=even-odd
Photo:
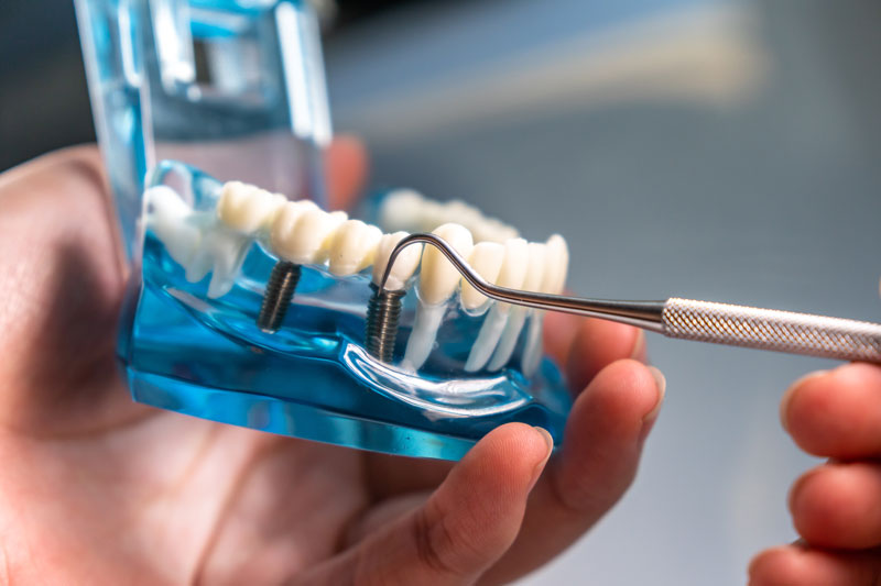
[[[301,265],[327,263],[330,273],[338,276],[354,275],[372,265],[377,283],[391,251],[406,236],[404,231],[383,234],[374,225],[349,220],[342,211],[328,213],[312,201],[287,201],[282,195],[240,181],[224,186],[217,211],[220,221],[235,231],[251,235],[268,232],[272,251],[285,261]],[[546,243],[527,243],[515,236],[514,229],[485,218],[471,206],[460,201],[436,203],[410,190],[399,190],[387,197],[381,215],[389,225],[403,225],[403,218],[416,218],[415,222],[409,221],[412,225],[422,222],[420,218],[432,211],[436,212],[436,219],[455,214],[457,222],[443,223],[433,233],[465,256],[489,283],[534,291],[562,290],[568,253],[559,235],[551,236]],[[496,239],[503,244],[494,242]],[[403,288],[417,266],[420,246],[405,248],[389,275],[388,287]],[[465,309],[476,310],[485,303],[486,297],[471,287],[438,250],[429,246],[422,256],[421,299],[431,306],[443,303],[459,284]]]

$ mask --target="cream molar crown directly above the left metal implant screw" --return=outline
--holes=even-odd
[[[272,224],[272,250],[282,258],[297,265],[323,263],[327,257],[334,231],[344,221],[342,215],[327,213],[314,204],[307,204],[301,213],[285,206]]]

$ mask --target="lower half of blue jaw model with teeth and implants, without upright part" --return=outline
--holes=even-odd
[[[569,398],[542,357],[539,312],[486,299],[431,247],[405,248],[381,295],[377,284],[402,229],[439,223],[434,233],[486,279],[557,292],[563,239],[526,243],[474,208],[410,191],[387,195],[379,212],[384,232],[160,164],[120,344],[134,398],[411,456],[458,458],[510,421],[559,441]]]

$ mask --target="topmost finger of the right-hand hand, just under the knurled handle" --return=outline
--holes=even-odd
[[[783,396],[781,420],[812,454],[881,455],[881,367],[848,364],[797,380]]]

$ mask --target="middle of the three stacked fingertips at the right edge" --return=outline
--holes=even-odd
[[[881,545],[881,465],[829,463],[802,476],[790,491],[795,529],[820,548]]]

